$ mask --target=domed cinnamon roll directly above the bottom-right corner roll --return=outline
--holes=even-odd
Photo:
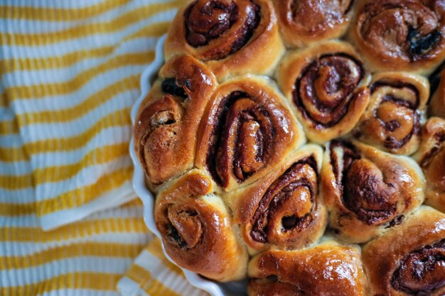
[[[321,169],[329,224],[341,239],[365,243],[401,224],[424,201],[424,177],[406,156],[358,141],[332,141]]]

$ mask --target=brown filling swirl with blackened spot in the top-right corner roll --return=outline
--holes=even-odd
[[[443,4],[440,1],[377,0],[358,16],[365,42],[388,57],[416,61],[443,48]],[[439,11],[441,10],[441,11]]]

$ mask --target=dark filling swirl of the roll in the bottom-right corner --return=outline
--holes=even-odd
[[[427,296],[445,286],[445,240],[412,251],[392,275],[395,290]]]

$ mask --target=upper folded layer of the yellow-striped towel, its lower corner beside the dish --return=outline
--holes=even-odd
[[[3,182],[33,187],[45,230],[135,198],[129,109],[181,4],[64,2],[7,0],[0,14],[1,97],[31,163],[31,179]]]

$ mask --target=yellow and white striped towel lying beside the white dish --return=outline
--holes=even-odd
[[[182,2],[0,1],[0,296],[205,295],[130,185],[129,110]]]

